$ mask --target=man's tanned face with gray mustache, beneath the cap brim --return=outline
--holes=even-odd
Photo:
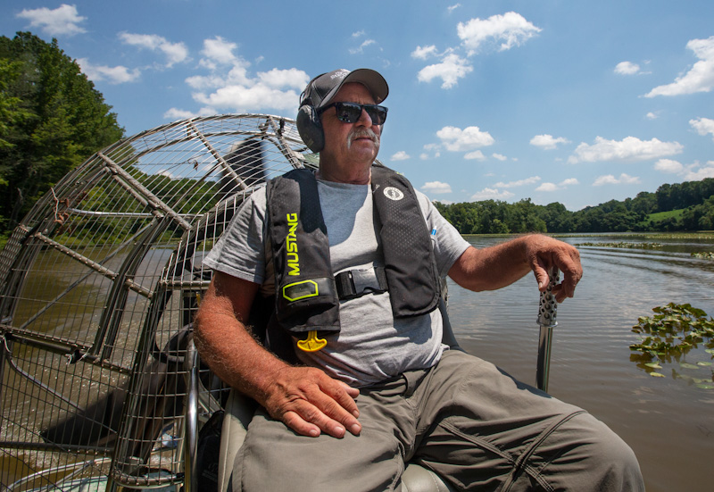
[[[359,83],[345,84],[331,102],[375,104],[369,90]],[[372,124],[364,110],[360,119],[354,123],[337,120],[334,107],[322,113],[320,118],[325,131],[325,148],[320,152],[320,162],[324,158],[330,165],[339,167],[371,166],[379,152],[382,129],[379,125]]]

